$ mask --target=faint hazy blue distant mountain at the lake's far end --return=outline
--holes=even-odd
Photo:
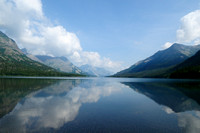
[[[104,77],[104,76],[109,76],[112,74],[111,72],[109,72],[108,70],[105,70],[104,68],[93,67],[88,64],[82,65],[79,68],[91,76]]]

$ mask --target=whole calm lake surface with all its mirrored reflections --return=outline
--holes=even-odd
[[[200,81],[0,78],[0,132],[200,133]]]

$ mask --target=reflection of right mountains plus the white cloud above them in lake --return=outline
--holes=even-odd
[[[187,133],[200,132],[200,82],[123,82],[178,116],[178,126]]]

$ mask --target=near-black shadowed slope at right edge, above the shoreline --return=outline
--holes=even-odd
[[[173,70],[170,78],[200,78],[200,50]]]

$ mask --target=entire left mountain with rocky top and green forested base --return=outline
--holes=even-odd
[[[58,72],[28,58],[14,40],[0,31],[0,75],[21,76],[76,76]]]

